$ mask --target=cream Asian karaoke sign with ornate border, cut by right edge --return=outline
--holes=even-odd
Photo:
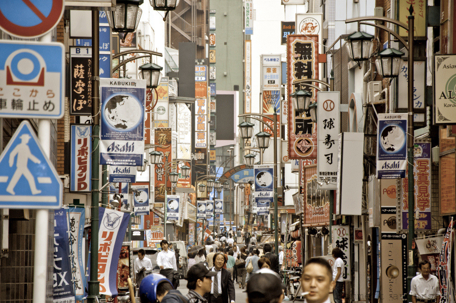
[[[434,56],[434,122],[456,123],[456,55]]]

